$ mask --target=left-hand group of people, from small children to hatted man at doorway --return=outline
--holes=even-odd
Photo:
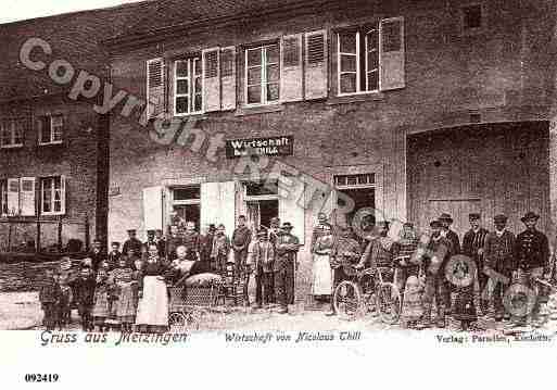
[[[245,216],[229,238],[224,225],[210,225],[203,234],[195,224],[173,224],[164,237],[162,230],[149,230],[145,242],[135,229],[122,246],[112,242],[103,251],[100,240],[80,262],[79,274],[69,264],[48,271],[39,293],[48,329],[67,326],[71,311],[77,307],[83,329],[106,331],[118,326],[123,331],[164,331],[168,327],[168,286],[199,274],[225,276],[232,266],[243,278],[243,303],[250,306],[248,286],[255,277],[255,309],[271,303],[288,312],[294,303],[294,267],[300,249],[290,223],[273,218],[269,228],[255,232]]]

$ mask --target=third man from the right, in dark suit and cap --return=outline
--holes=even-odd
[[[485,236],[488,230],[481,227],[480,224],[481,214],[470,213],[468,221],[470,222],[470,230],[468,230],[463,238],[463,254],[467,255],[476,263],[478,269],[478,282],[480,285],[480,291],[483,291],[488,285],[489,277],[482,272],[483,269],[483,244],[485,242]],[[480,297],[480,304],[483,314],[486,314],[489,310],[489,301]]]

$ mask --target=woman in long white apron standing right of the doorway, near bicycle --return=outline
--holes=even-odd
[[[328,299],[332,293],[331,254],[334,247],[330,225],[321,227],[322,234],[314,244],[314,265],[312,294],[318,299]]]

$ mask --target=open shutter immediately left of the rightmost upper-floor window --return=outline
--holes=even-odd
[[[327,98],[327,32],[305,34],[305,99]]]

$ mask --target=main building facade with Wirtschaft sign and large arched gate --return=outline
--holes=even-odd
[[[464,235],[481,212],[518,231],[532,210],[553,231],[552,2],[155,3],[107,41],[114,85],[152,105],[147,127],[112,115],[111,238],[278,215],[307,269],[317,213],[346,198],[420,229],[448,212]],[[190,127],[154,133],[156,115]]]

